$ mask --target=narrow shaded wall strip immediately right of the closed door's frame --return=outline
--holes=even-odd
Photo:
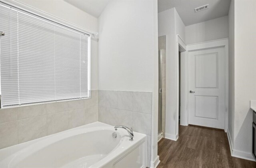
[[[230,8],[228,12],[228,134],[230,141],[234,142],[234,0],[230,2]]]

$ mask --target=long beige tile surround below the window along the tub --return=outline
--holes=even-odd
[[[91,99],[0,109],[0,149],[98,121],[98,93]]]

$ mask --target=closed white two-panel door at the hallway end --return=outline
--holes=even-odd
[[[225,127],[224,47],[189,53],[189,124]]]

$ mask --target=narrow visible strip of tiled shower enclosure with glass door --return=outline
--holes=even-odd
[[[158,37],[158,135],[165,135],[166,36]]]

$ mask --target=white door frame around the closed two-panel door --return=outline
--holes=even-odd
[[[188,85],[189,85],[189,52],[192,51],[198,51],[203,49],[213,49],[213,48],[220,48],[224,47],[224,54],[225,54],[225,103],[226,103],[226,109],[225,109],[225,132],[227,132],[228,129],[228,38],[219,39],[219,40],[213,40],[208,42],[202,42],[202,43],[194,43],[186,45],[186,93],[188,93]],[[179,75],[179,74],[178,74]],[[187,108],[185,111],[185,121],[181,121],[180,123],[184,123],[184,125],[188,125],[188,115],[189,115],[189,109],[188,109],[188,94],[184,94],[186,97],[185,102],[181,102],[183,106],[186,106]],[[179,97],[178,97],[179,98]],[[179,100],[179,99],[178,99]],[[179,111],[177,111],[178,115]],[[181,117],[182,119],[182,117]],[[177,125],[178,128],[178,125]]]

